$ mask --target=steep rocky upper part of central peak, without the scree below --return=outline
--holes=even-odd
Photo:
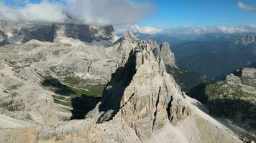
[[[165,71],[165,64],[155,59],[149,45],[129,54],[107,84],[99,111],[98,123],[124,119],[143,141],[169,121],[176,124],[191,114],[182,101],[182,93]]]

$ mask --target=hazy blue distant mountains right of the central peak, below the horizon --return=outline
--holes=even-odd
[[[255,34],[239,36],[231,44],[227,41],[178,44],[173,51],[180,66],[215,78],[256,61]]]

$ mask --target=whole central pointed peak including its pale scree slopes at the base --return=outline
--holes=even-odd
[[[129,54],[86,119],[46,127],[36,142],[239,142],[186,97],[147,44]],[[222,134],[219,136],[219,134]]]

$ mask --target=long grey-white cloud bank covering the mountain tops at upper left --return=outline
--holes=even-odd
[[[0,0],[0,20],[78,24],[130,24],[155,11],[151,3],[132,0],[43,0],[24,6],[6,6]]]

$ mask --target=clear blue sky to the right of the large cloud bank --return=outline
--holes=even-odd
[[[146,1],[146,0],[137,0]],[[256,12],[245,11],[237,0],[150,0],[157,12],[139,25],[168,29],[178,26],[243,26],[256,24]],[[256,4],[255,0],[242,1]]]

